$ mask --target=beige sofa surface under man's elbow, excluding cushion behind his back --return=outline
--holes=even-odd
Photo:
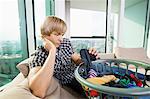
[[[52,82],[44,99],[80,99],[79,96],[73,95],[60,86],[57,80]],[[40,99],[34,96],[28,87],[28,79],[24,78],[22,73],[18,74],[15,79],[3,86],[0,92],[0,99]]]

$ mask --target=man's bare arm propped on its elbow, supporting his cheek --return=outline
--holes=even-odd
[[[46,49],[49,51],[49,55],[40,68],[33,68],[29,73],[29,88],[31,92],[40,98],[44,98],[47,89],[51,82],[51,78],[54,72],[56,48],[51,45],[51,42],[46,44]]]

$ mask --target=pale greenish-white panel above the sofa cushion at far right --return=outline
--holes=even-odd
[[[143,47],[144,26],[127,18],[124,19],[124,31],[120,38],[123,47]]]

